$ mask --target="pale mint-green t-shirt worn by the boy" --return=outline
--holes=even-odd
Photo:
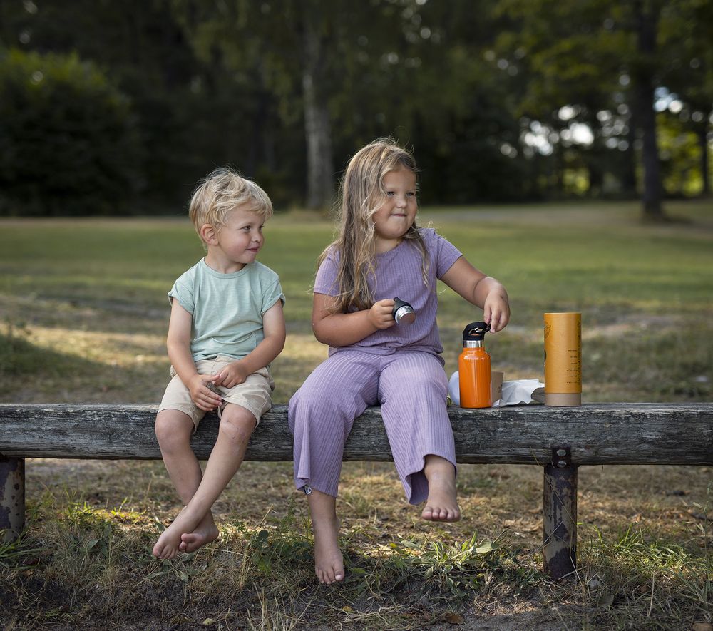
[[[201,259],[173,284],[168,298],[193,316],[193,361],[227,355],[242,359],[262,342],[262,316],[278,300],[279,277],[257,261],[221,274]]]

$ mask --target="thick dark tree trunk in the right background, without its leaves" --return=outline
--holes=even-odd
[[[643,6],[646,4],[646,7]],[[635,68],[634,90],[637,106],[636,119],[642,131],[642,162],[644,166],[643,211],[644,219],[665,219],[661,203],[661,169],[656,140],[656,113],[654,111],[654,54],[659,9],[655,2],[633,3],[636,21],[639,60]]]

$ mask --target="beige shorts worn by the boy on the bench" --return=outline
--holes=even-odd
[[[234,357],[218,355],[215,359],[199,359],[195,362],[195,367],[198,374],[217,374],[233,361],[235,361]],[[193,399],[190,398],[190,390],[183,385],[183,381],[175,373],[173,366],[171,366],[171,377],[173,379],[166,386],[158,411],[166,409],[181,411],[188,414],[193,425],[198,428],[200,420],[207,413],[193,403]],[[257,426],[260,423],[260,416],[272,407],[270,395],[275,389],[275,382],[272,381],[270,371],[267,368],[261,368],[248,375],[242,384],[237,384],[232,388],[217,386],[217,389],[220,390],[223,398],[220,410],[228,403],[242,406],[252,412],[252,415],[255,416],[255,426]]]

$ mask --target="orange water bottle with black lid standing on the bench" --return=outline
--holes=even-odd
[[[491,397],[490,355],[483,347],[483,337],[490,324],[471,322],[463,329],[463,352],[458,356],[458,386],[461,408],[489,408]]]

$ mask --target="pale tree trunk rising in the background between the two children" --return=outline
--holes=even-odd
[[[329,111],[324,98],[324,45],[316,21],[319,12],[304,4],[302,96],[307,140],[307,207],[324,208],[332,200],[334,167]]]

